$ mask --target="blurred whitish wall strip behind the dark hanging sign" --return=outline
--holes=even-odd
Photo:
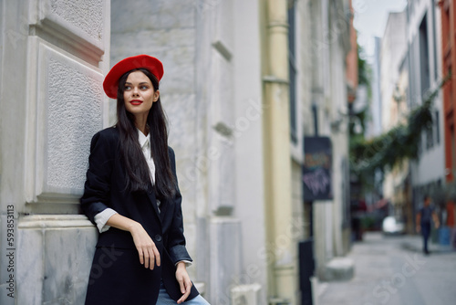
[[[316,274],[326,278],[326,263],[345,254],[349,241],[344,232],[347,223],[348,129],[347,84],[345,60],[349,49],[347,2],[311,1],[312,102],[317,107],[318,135],[329,136],[333,147],[333,199],[313,204],[314,254]],[[311,103],[307,103],[311,107]],[[311,112],[309,112],[310,114]],[[306,118],[314,121],[313,117]],[[306,133],[314,135],[314,127],[305,121]]]

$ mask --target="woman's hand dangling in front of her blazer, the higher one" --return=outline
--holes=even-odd
[[[155,246],[155,243],[149,234],[147,234],[144,227],[140,223],[136,223],[134,226],[131,226],[130,233],[140,255],[140,263],[145,268],[150,268],[150,270],[153,270],[155,264],[160,266],[159,249]]]

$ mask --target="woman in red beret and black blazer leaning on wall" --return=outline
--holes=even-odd
[[[118,122],[90,143],[81,208],[98,226],[86,304],[208,304],[186,270],[181,193],[168,147],[157,58],[119,61],[103,89]]]

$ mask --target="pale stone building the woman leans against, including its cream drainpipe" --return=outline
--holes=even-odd
[[[88,145],[116,121],[104,75],[137,54],[164,64],[189,273],[211,304],[299,304],[298,242],[314,238],[320,279],[347,253],[349,2],[152,2],[0,2],[0,286],[14,291],[1,304],[83,303],[98,234],[78,208]],[[337,147],[334,199],[310,204],[316,133]]]

